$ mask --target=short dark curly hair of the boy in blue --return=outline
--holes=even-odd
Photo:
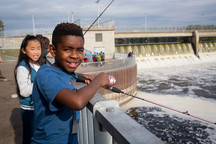
[[[60,23],[58,24],[52,34],[52,44],[57,47],[61,37],[64,35],[80,36],[84,40],[82,28],[74,23]]]

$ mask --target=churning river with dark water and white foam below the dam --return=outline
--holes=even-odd
[[[139,67],[139,63],[138,63]],[[216,122],[216,63],[138,69],[136,96]],[[122,107],[167,143],[216,143],[216,124],[133,99]]]

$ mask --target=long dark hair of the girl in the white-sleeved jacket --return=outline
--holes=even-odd
[[[24,60],[25,63],[26,63],[26,66],[27,66],[28,69],[29,69],[29,75],[31,75],[31,66],[30,66],[30,64],[29,64],[30,58],[29,58],[26,54],[24,54],[24,53],[22,52],[22,49],[26,50],[26,47],[27,47],[28,43],[29,43],[30,41],[35,41],[35,40],[39,41],[39,40],[37,39],[37,37],[35,37],[35,36],[33,36],[33,35],[27,35],[27,36],[23,39],[22,44],[21,44],[21,46],[20,46],[18,61],[17,61],[16,67],[15,67],[15,69],[14,69],[14,77],[15,77],[15,82],[16,82],[16,86],[17,86],[17,94],[19,95],[19,97],[20,97],[20,91],[19,91],[19,87],[18,87],[18,83],[17,83],[17,79],[16,79],[16,69],[17,69],[17,67],[19,66],[20,62],[21,62],[22,60]],[[39,59],[40,59],[40,58],[39,58]]]

